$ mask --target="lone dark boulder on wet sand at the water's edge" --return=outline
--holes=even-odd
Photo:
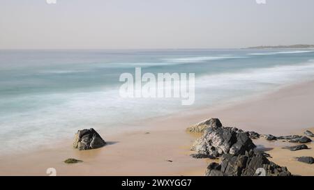
[[[73,147],[78,150],[89,150],[101,148],[106,145],[106,142],[94,129],[83,129],[77,131]]]

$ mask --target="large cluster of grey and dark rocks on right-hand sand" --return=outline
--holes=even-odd
[[[235,127],[223,127],[218,119],[211,118],[204,122],[188,128],[189,132],[203,132],[191,150],[196,154],[194,158],[216,159],[220,157],[220,164],[213,162],[209,164],[205,172],[206,176],[252,176],[259,175],[258,171],[267,176],[289,176],[291,173],[285,167],[278,166],[269,161],[269,154],[257,152],[251,138],[260,138],[257,132],[244,132]],[[264,135],[269,141],[277,139],[298,139],[303,136],[273,136]],[[302,139],[304,140],[304,139]],[[302,141],[301,140],[301,141]],[[291,147],[290,150],[301,150],[306,145]],[[256,151],[256,152],[255,152]]]

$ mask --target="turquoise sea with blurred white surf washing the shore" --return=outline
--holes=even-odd
[[[195,104],[124,99],[124,72],[193,72]],[[0,51],[0,154],[20,152],[94,127],[129,122],[264,93],[314,79],[313,49]]]

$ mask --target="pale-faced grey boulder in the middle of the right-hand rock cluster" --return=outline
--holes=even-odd
[[[191,150],[197,154],[216,158],[224,154],[241,155],[255,148],[248,132],[234,127],[209,127],[195,141]]]

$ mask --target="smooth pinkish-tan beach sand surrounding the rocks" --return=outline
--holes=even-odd
[[[52,142],[53,148],[1,157],[0,175],[47,175],[47,168],[55,168],[57,175],[204,175],[213,160],[189,156],[197,136],[187,134],[186,127],[219,118],[224,126],[260,134],[303,134],[306,129],[314,132],[313,97],[314,82],[307,82],[233,105],[145,120],[135,124],[142,127],[133,132],[110,135],[100,130],[108,142],[104,148],[79,151],[72,148],[73,139]],[[294,159],[314,157],[313,143],[307,144],[310,150],[291,152],[282,147],[292,143],[264,139],[254,142],[268,150],[271,161],[287,166],[292,174],[314,175],[314,165]],[[64,164],[68,158],[83,162]]]

